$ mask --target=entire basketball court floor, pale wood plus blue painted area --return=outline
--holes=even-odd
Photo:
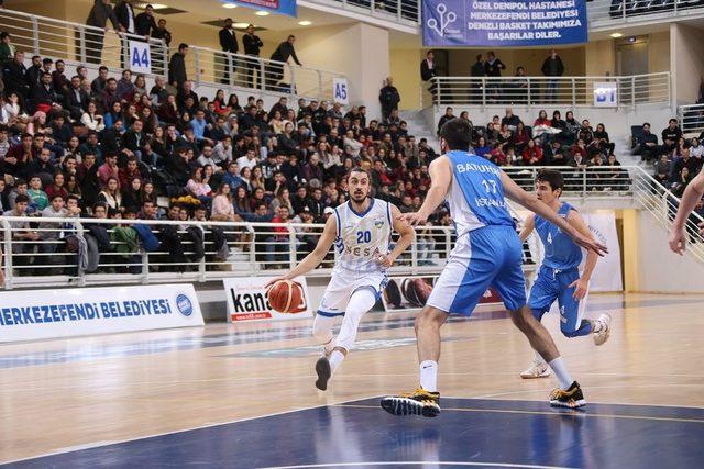
[[[395,417],[417,384],[413,314],[370,313],[328,392],[310,320],[209,324],[0,346],[10,467],[584,467],[704,465],[704,297],[592,295],[610,340],[553,333],[587,402],[547,403],[502,312],[443,327],[438,418]]]

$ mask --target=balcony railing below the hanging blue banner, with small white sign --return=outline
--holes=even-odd
[[[670,105],[669,71],[628,77],[436,77],[431,85],[432,100],[438,105],[595,107],[596,89],[607,92],[607,99],[613,98],[610,108]]]

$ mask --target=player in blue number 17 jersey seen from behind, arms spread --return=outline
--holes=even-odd
[[[597,254],[605,253],[606,247],[581,234],[536,196],[520,189],[496,165],[471,154],[471,124],[459,119],[442,126],[443,155],[430,164],[432,181],[426,200],[417,213],[404,215],[415,226],[447,201],[457,243],[426,306],[416,317],[420,387],[407,394],[382,399],[382,407],[395,415],[440,414],[437,384],[440,327],[450,314],[471,314],[488,287],[498,291],[514,324],[556,373],[560,387],[551,393],[550,403],[565,407],[584,405],[580,384],[570,377],[548,331],[526,305],[522,246],[504,194],[560,227],[578,245]]]

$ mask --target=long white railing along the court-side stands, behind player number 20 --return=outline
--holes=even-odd
[[[125,242],[118,235],[135,224],[147,225],[161,239],[157,250],[145,252],[141,244]],[[0,216],[4,288],[202,282],[233,275],[280,273],[315,248],[323,227],[322,224],[296,223]],[[202,235],[198,236],[199,232]],[[106,236],[110,239],[109,245],[105,241],[100,245],[101,237]],[[180,248],[174,249],[174,244],[167,241],[174,241],[174,236]],[[90,237],[94,239],[88,242]],[[98,246],[97,250],[76,252],[70,247],[78,243],[76,238],[86,241],[87,246]],[[389,273],[438,273],[453,242],[454,230],[451,227],[419,227],[414,244],[397,259]],[[89,256],[94,257],[91,261],[88,261]],[[329,276],[336,256],[333,246],[309,276]],[[86,264],[90,265],[90,271],[86,270]]]

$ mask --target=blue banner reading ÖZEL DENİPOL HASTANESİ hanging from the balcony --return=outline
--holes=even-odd
[[[422,0],[425,46],[586,43],[586,0]]]

